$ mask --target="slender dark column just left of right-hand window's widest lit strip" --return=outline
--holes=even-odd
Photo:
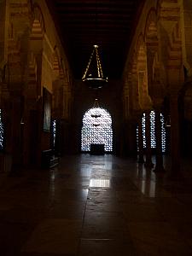
[[[145,137],[146,137],[146,162],[145,167],[152,168],[154,164],[152,163],[151,157],[151,133],[150,133],[150,110],[146,111],[145,114]]]

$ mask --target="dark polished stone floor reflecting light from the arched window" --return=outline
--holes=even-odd
[[[192,166],[181,180],[136,160],[82,154],[0,173],[0,255],[192,255]]]

